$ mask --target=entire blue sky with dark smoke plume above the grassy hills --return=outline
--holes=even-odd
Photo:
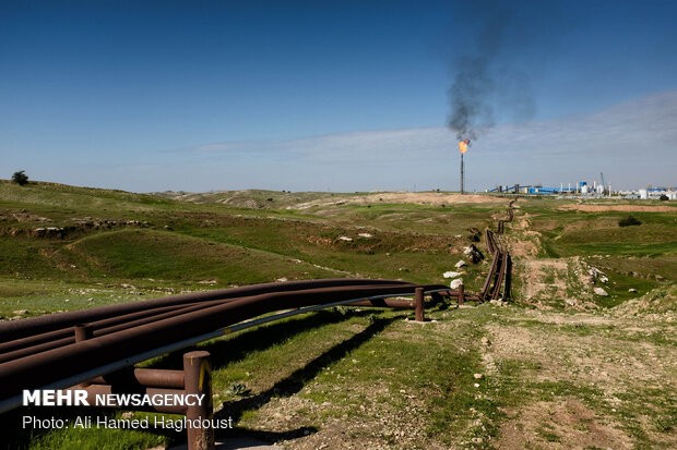
[[[467,191],[675,186],[675,23],[673,0],[0,0],[0,178],[456,191],[472,137]]]

